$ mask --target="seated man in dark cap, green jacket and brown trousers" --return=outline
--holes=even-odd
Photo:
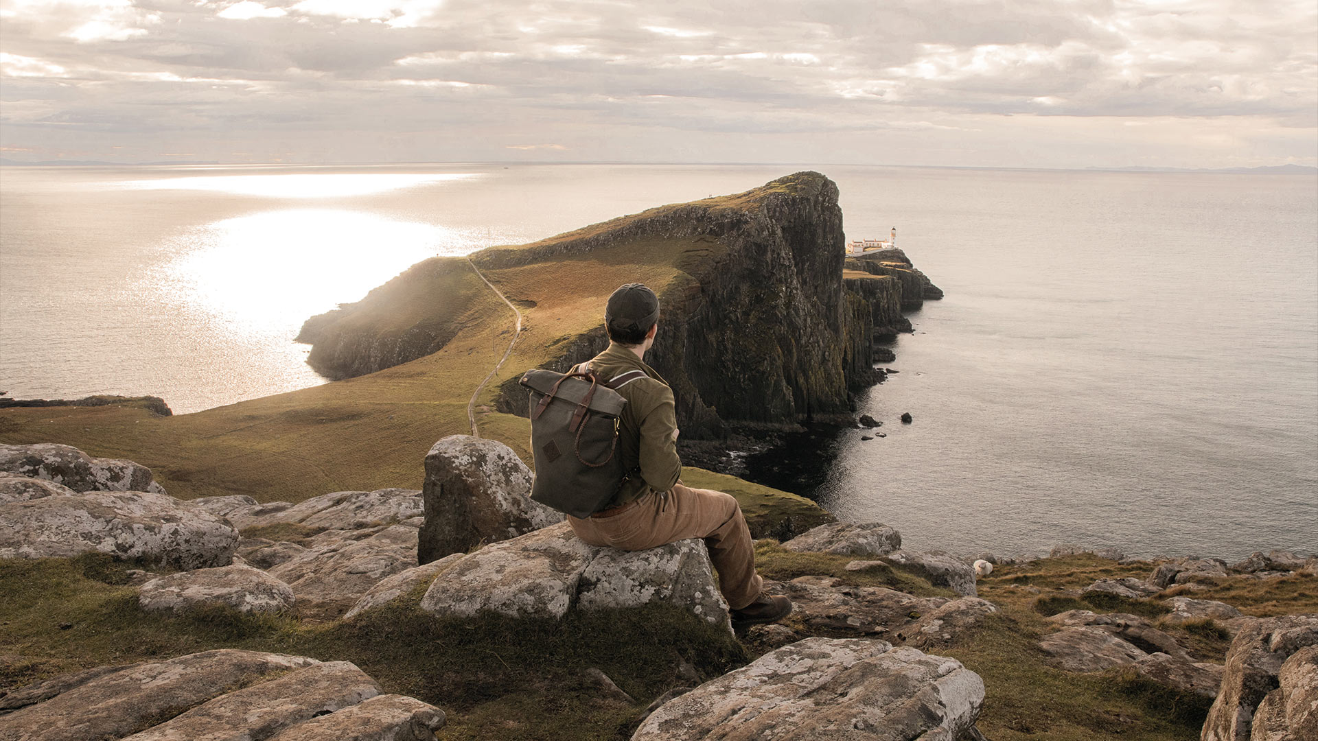
[[[618,455],[627,477],[602,512],[585,519],[569,516],[572,531],[592,546],[627,551],[704,538],[734,628],[787,617],[792,601],[760,591],[754,543],[737,500],[681,483],[672,389],[643,360],[659,331],[659,297],[642,283],[627,283],[609,297],[604,322],[609,348],[587,365],[602,381],[627,370],[647,377],[617,389],[627,400],[618,423]]]

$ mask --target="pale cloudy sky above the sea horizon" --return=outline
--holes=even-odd
[[[0,0],[0,157],[1318,165],[1318,3]]]

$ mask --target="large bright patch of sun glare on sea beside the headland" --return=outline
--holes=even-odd
[[[174,249],[163,281],[190,314],[227,334],[291,340],[302,323],[360,299],[410,265],[465,254],[484,240],[361,211],[295,208],[225,219]]]

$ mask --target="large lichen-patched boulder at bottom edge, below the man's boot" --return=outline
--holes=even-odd
[[[954,659],[807,638],[664,703],[631,741],[953,740],[971,733],[983,696]]]

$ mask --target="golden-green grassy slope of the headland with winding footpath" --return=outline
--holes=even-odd
[[[708,224],[684,232],[683,224],[695,223],[688,211],[717,211],[725,224],[754,222],[774,199],[821,183],[828,183],[821,175],[795,175],[735,196],[662,207],[473,254],[525,318],[513,356],[478,400],[481,434],[529,458],[526,419],[494,411],[500,381],[559,359],[597,330],[605,299],[618,285],[650,285],[664,297],[666,311],[708,289],[702,281],[718,274],[729,247],[708,233]],[[841,270],[824,280],[841,286]],[[430,446],[469,432],[467,402],[507,348],[513,312],[467,260],[432,258],[331,314],[308,323],[308,331],[343,341],[424,335],[438,348],[358,377],[195,414],[159,417],[133,406],[3,409],[0,440],[58,442],[96,456],[132,459],[185,498],[301,501],[331,490],[419,488]]]

